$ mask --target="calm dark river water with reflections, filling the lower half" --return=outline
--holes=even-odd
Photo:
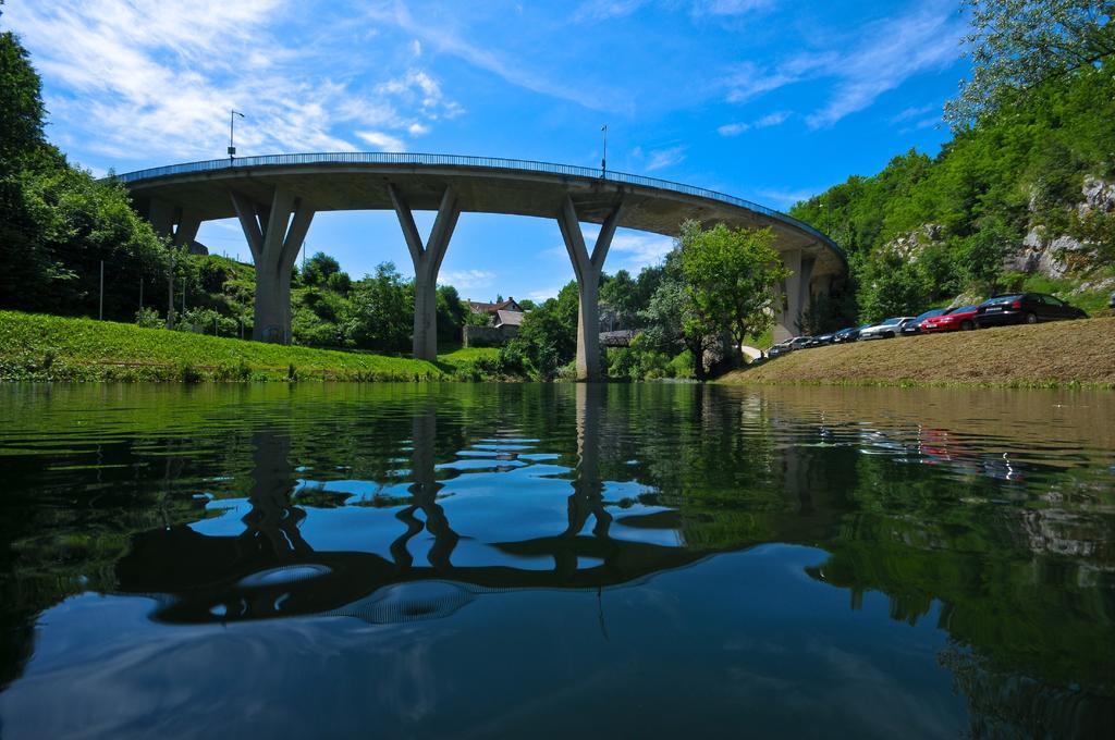
[[[0,736],[1102,736],[1113,420],[1053,391],[0,388]]]

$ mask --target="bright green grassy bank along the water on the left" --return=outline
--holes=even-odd
[[[476,353],[432,363],[0,311],[0,380],[442,380]]]

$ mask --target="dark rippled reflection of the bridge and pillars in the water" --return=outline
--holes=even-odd
[[[524,588],[600,590],[695,563],[709,553],[682,546],[611,536],[612,515],[600,476],[603,388],[578,384],[578,466],[564,529],[553,536],[494,543],[505,558],[492,565],[454,565],[460,535],[438,502],[433,401],[413,421],[410,500],[397,518],[404,530],[390,557],[368,552],[318,552],[303,538],[304,509],[295,491],[290,440],[279,432],[254,436],[251,510],[239,536],[209,536],[187,526],[137,536],[117,564],[125,593],[163,594],[156,617],[171,622],[226,622],[300,614],[343,614],[371,622],[409,621],[449,614],[475,594]],[[649,519],[653,517],[641,517]],[[644,526],[672,528],[675,518]],[[582,534],[592,520],[589,534]],[[427,565],[417,565],[411,542],[433,539]],[[553,562],[540,571],[515,561]]]

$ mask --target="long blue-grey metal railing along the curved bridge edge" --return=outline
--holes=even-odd
[[[290,166],[290,165],[312,165],[312,164],[385,164],[385,165],[446,165],[452,167],[477,167],[485,169],[515,169],[521,172],[539,172],[550,175],[571,175],[574,177],[589,177],[604,179],[613,183],[627,183],[629,185],[640,185],[643,187],[656,187],[663,191],[672,191],[685,195],[708,198],[727,203],[762,213],[776,218],[783,223],[801,228],[804,232],[825,242],[837,254],[843,255],[842,250],[827,236],[813,226],[798,221],[792,216],[768,208],[765,205],[737,198],[734,195],[718,193],[704,187],[685,185],[668,179],[657,177],[644,177],[643,175],[631,175],[622,172],[601,172],[590,167],[578,165],[559,165],[550,162],[534,162],[532,159],[505,159],[503,157],[474,157],[456,154],[417,154],[417,153],[388,153],[388,152],[328,152],[317,154],[269,154],[258,157],[241,157],[239,159],[207,159],[204,162],[188,162],[180,165],[167,165],[165,167],[153,167],[151,169],[139,169],[136,172],[116,175],[124,183],[135,183],[143,179],[166,177],[169,175],[184,175],[191,173],[221,172],[225,169],[246,169],[251,167],[268,166]]]

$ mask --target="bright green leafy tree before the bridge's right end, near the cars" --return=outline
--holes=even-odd
[[[729,332],[738,352],[748,335],[774,323],[776,288],[791,272],[769,228],[704,230],[689,222],[681,230],[681,274],[692,308],[686,321],[695,331]]]

